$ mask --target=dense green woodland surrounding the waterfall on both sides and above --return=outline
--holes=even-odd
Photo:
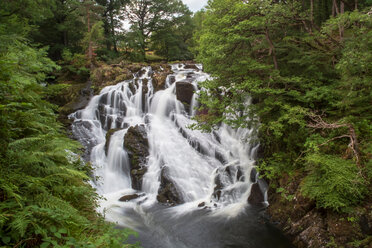
[[[138,246],[97,215],[91,168],[51,103],[123,61],[203,63],[214,79],[194,128],[256,126],[260,173],[283,199],[295,197],[286,177],[357,221],[371,202],[371,5],[210,0],[192,14],[180,0],[1,1],[0,246]]]

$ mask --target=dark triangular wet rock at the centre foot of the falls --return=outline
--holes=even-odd
[[[158,202],[175,206],[184,203],[174,181],[169,175],[169,168],[164,166],[160,173],[160,188],[156,197]]]

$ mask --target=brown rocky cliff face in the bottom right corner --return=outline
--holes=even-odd
[[[371,248],[372,205],[365,204],[350,213],[318,209],[299,190],[302,176],[283,176],[276,182],[281,192],[269,191],[267,212],[293,244],[299,248]],[[365,202],[371,203],[371,197]]]

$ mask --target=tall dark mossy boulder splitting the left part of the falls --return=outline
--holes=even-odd
[[[149,142],[144,125],[130,127],[124,137],[124,148],[130,160],[132,188],[141,190],[142,178],[147,171]]]

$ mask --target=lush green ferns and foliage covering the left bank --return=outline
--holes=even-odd
[[[55,94],[43,85],[59,67],[26,39],[30,30],[0,15],[0,246],[138,247],[123,244],[130,232],[119,234],[95,211],[80,146],[43,99]]]

